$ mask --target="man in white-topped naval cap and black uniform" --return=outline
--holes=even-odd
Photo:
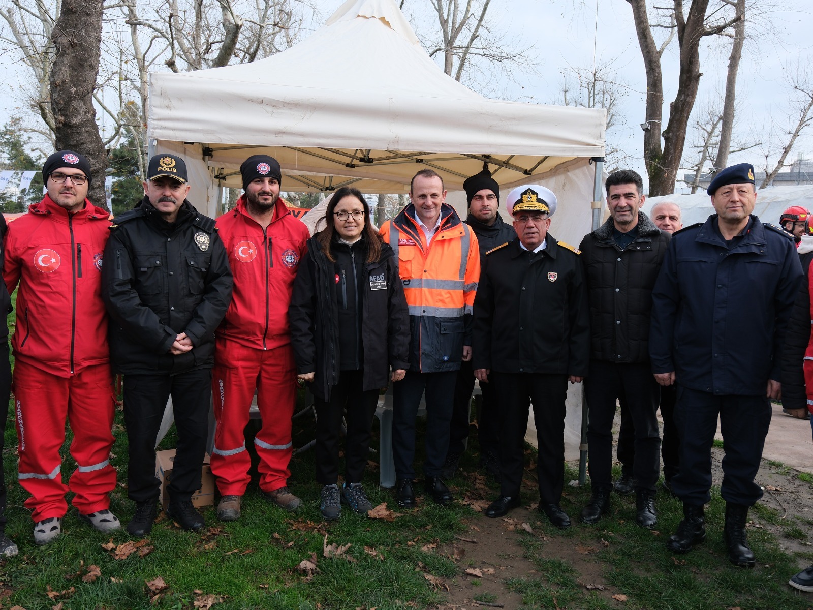
[[[500,496],[486,516],[520,505],[528,403],[537,427],[539,510],[560,528],[567,381],[582,381],[590,355],[589,304],[579,251],[548,233],[556,196],[524,185],[508,195],[517,237],[489,251],[474,302],[472,361],[502,405]]]

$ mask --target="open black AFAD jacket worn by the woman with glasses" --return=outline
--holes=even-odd
[[[311,237],[293,281],[288,315],[297,373],[315,373],[311,391],[324,400],[330,398],[331,387],[338,383],[340,373],[341,318],[336,278],[336,263],[324,255],[316,236]],[[363,264],[359,283],[362,390],[375,390],[387,386],[390,366],[393,370],[409,368],[409,311],[398,277],[398,263],[388,244],[381,244],[376,262]]]

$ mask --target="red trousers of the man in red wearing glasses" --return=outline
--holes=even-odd
[[[114,412],[110,365],[86,367],[66,378],[17,360],[12,389],[20,441],[18,478],[31,494],[25,506],[31,509],[32,519],[63,516],[68,490],[75,494],[72,504],[83,515],[110,508],[108,494],[116,475],[110,464]],[[59,456],[66,418],[77,466],[67,486],[62,482]]]

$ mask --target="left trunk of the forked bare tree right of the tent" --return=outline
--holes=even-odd
[[[650,28],[649,16],[646,15],[646,0],[630,0],[633,7],[633,20],[638,34],[638,44],[644,58],[646,70],[646,121],[649,131],[644,132],[644,160],[646,173],[650,176],[650,185],[659,181],[662,174],[660,137],[663,125],[663,75],[660,66],[660,54],[655,45]],[[650,195],[652,188],[650,186]]]

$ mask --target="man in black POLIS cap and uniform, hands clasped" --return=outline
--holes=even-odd
[[[205,525],[191,498],[206,452],[215,328],[232,298],[215,221],[186,200],[184,160],[155,155],[144,192],[133,210],[113,220],[102,268],[111,362],[124,373],[133,536],[148,534],[156,516],[155,437],[170,395],[178,444],[167,514],[184,529]]]

